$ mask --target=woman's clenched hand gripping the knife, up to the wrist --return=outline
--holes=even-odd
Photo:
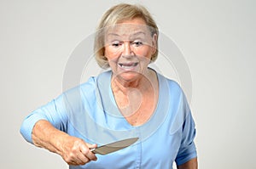
[[[97,160],[96,155],[90,151],[90,148],[96,148],[96,144],[86,144],[84,140],[72,136],[64,139],[59,154],[68,165],[84,165]]]

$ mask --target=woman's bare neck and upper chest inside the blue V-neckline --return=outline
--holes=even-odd
[[[154,70],[137,81],[123,82],[112,76],[111,87],[119,111],[132,126],[139,126],[154,114],[158,102],[159,84]]]

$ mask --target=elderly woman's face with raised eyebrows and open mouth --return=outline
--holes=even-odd
[[[137,80],[147,73],[155,51],[156,35],[152,37],[141,18],[122,21],[106,33],[105,57],[113,75],[125,82]]]

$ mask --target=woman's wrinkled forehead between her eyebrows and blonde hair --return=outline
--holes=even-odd
[[[105,38],[120,37],[122,39],[130,39],[132,37],[151,37],[151,31],[148,25],[137,24],[117,24],[108,26],[105,31]],[[106,39],[106,40],[107,40]]]

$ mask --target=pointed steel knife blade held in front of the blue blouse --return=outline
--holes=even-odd
[[[119,149],[125,149],[131,144],[137,142],[137,140],[138,138],[123,139],[117,142],[113,142],[111,144],[105,144],[97,148],[90,149],[90,151],[99,155],[108,155],[109,153],[113,153],[114,151],[118,151]]]

